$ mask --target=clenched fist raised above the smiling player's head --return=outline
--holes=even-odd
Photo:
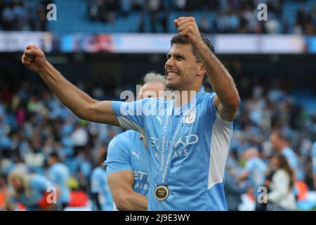
[[[173,23],[177,27],[179,34],[185,37],[192,46],[197,46],[202,43],[201,34],[199,34],[199,28],[197,27],[197,23],[195,23],[195,18],[180,17],[174,20]]]

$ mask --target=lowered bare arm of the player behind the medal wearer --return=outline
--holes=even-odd
[[[145,211],[147,198],[133,191],[134,174],[131,170],[114,172],[107,176],[110,190],[118,210]]]

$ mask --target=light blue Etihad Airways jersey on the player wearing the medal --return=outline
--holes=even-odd
[[[146,137],[150,158],[148,210],[227,210],[224,173],[232,122],[220,119],[214,96],[201,90],[180,107],[164,98],[112,102],[121,127]],[[167,150],[164,155],[172,156],[169,197],[159,201],[154,190],[160,183],[159,172],[164,170],[160,162],[170,161],[160,158],[162,149]]]

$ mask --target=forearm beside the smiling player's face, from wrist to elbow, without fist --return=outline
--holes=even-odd
[[[202,60],[206,73],[210,79],[213,90],[216,92],[220,103],[227,108],[239,105],[239,95],[235,82],[230,73],[211,50],[202,42],[195,46]]]

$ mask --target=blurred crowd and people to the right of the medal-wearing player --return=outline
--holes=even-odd
[[[236,198],[241,202],[242,193],[249,193],[258,198],[262,193],[262,186],[280,188],[282,177],[276,174],[279,164],[286,163],[289,172],[287,185],[280,190],[275,190],[269,195],[269,200],[279,201],[290,198],[282,203],[282,208],[276,210],[298,210],[301,205],[309,203],[298,203],[302,200],[301,187],[306,190],[315,190],[313,180],[313,164],[315,167],[316,145],[316,113],[308,113],[298,105],[294,99],[282,89],[268,89],[263,94],[263,87],[256,86],[253,95],[244,98],[239,116],[235,122],[235,131],[230,158],[228,160],[226,186],[228,192],[232,186],[236,190],[228,195],[233,195],[232,205]],[[285,157],[280,159],[280,156]],[[281,162],[275,162],[275,161]],[[284,169],[284,168],[282,168]],[[284,172],[284,171],[283,171]],[[282,173],[281,173],[282,174]],[[273,175],[276,175],[275,177]],[[281,175],[282,176],[282,175]],[[315,176],[315,175],[314,175]],[[292,180],[291,180],[292,179]],[[290,182],[291,180],[291,182]],[[269,185],[270,184],[270,185]],[[291,185],[290,185],[291,184]],[[242,191],[243,190],[243,191]],[[287,191],[293,192],[291,197]],[[228,202],[230,198],[228,198]],[[313,207],[315,207],[315,203]],[[230,205],[228,203],[228,205]],[[260,207],[256,207],[260,210]]]

